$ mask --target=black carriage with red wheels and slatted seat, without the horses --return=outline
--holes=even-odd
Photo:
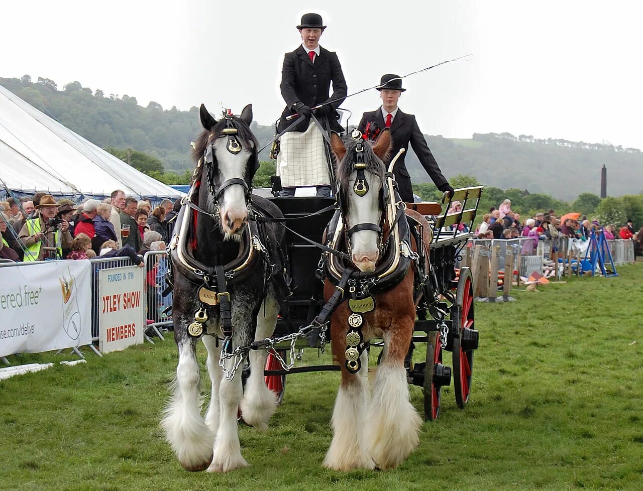
[[[474,326],[471,271],[467,267],[456,267],[459,252],[471,234],[459,232],[458,228],[460,224],[466,224],[471,229],[481,191],[480,187],[463,188],[456,190],[452,197],[445,196],[441,203],[407,204],[428,217],[433,227],[430,244],[431,280],[435,282],[435,291],[441,300],[439,305],[417,309],[418,319],[415,321],[412,341],[426,343],[426,359],[414,364],[411,348],[406,363],[408,381],[423,388],[424,415],[427,420],[437,419],[441,389],[451,384],[452,377],[458,407],[464,407],[469,400],[473,352],[478,348],[478,332]],[[311,242],[322,242],[323,233],[334,214],[334,210],[328,208],[334,207],[335,200],[322,197],[275,197],[271,201],[287,220],[287,273],[292,281],[293,292],[288,299],[289,321],[286,316],[280,316],[277,321],[265,370],[266,384],[275,391],[281,402],[287,375],[340,370],[338,364],[294,366],[294,350],[298,350],[296,358],[301,359],[303,350],[323,349],[324,346],[320,337],[316,337],[311,343],[310,339],[291,336],[293,325],[310,325],[324,304],[321,294],[321,251]],[[462,211],[448,215],[446,211],[451,208],[453,201],[462,202]],[[320,210],[326,211],[319,213]],[[329,341],[328,337],[323,341]],[[370,343],[371,346],[378,344],[381,345],[377,342]],[[452,353],[450,365],[443,359],[443,350]],[[249,366],[246,366],[247,370]]]

